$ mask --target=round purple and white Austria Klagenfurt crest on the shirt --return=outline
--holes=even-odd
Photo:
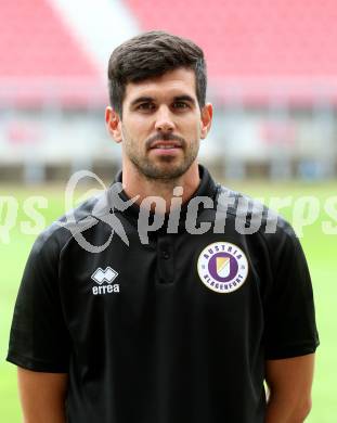
[[[202,251],[197,271],[207,287],[228,294],[238,290],[246,281],[248,261],[244,252],[236,245],[216,242]]]

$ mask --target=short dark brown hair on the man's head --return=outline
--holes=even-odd
[[[200,108],[206,101],[206,63],[203,50],[193,41],[174,35],[152,30],[117,47],[108,61],[108,94],[111,105],[121,116],[126,86],[179,67],[193,69],[196,97]]]

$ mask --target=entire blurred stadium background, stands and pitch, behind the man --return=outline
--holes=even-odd
[[[4,357],[35,239],[22,233],[25,201],[47,198],[47,225],[64,213],[75,170],[112,180],[120,150],[104,126],[106,64],[116,46],[147,29],[205,50],[216,114],[200,162],[218,179],[267,203],[319,200],[320,216],[301,240],[322,342],[308,422],[335,422],[337,240],[322,223],[326,198],[337,195],[336,18],[335,0],[0,0],[0,228],[4,198],[18,210],[9,239],[0,236],[1,422],[20,421],[15,369]],[[293,206],[283,209],[290,221]]]

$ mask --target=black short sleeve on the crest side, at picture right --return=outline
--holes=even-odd
[[[269,243],[272,281],[265,300],[265,359],[315,351],[319,334],[313,291],[302,247],[288,223]]]

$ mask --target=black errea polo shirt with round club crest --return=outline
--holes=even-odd
[[[176,229],[166,217],[145,243],[139,206],[121,210],[103,195],[75,210],[75,227],[64,217],[37,239],[8,360],[69,373],[68,422],[262,423],[264,361],[315,350],[311,282],[294,231],[278,217],[269,233],[263,208],[249,234],[256,203],[203,167],[200,178],[192,200],[209,200],[194,229],[190,201]]]

